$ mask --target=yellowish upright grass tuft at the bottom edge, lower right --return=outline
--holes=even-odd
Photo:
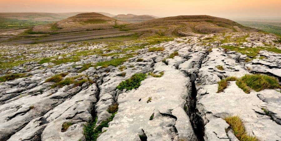
[[[227,124],[233,129],[234,135],[241,141],[258,141],[256,137],[247,135],[244,124],[239,116],[229,116],[224,118]]]

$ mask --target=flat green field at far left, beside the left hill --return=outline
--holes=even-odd
[[[0,18],[0,29],[24,28],[30,26],[44,25],[55,21],[32,21]]]

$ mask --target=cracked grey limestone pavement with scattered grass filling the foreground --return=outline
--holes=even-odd
[[[97,140],[234,141],[224,118],[235,115],[247,134],[281,140],[280,88],[246,94],[231,81],[216,93],[220,80],[252,73],[274,76],[280,85],[279,37],[215,33],[165,40],[1,45],[0,77],[20,76],[0,81],[0,140],[83,141],[86,125],[94,122],[94,131],[108,121]],[[116,88],[149,72],[136,89]],[[48,81],[62,73],[62,81],[73,82]],[[111,113],[115,103],[118,111]]]

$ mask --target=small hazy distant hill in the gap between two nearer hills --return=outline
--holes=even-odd
[[[112,18],[115,18],[120,21],[131,22],[131,23],[155,19],[154,17],[149,16],[149,15],[133,15],[133,14],[127,14],[127,15],[120,14],[117,16],[113,16]]]

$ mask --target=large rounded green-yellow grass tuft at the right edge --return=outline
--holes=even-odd
[[[236,84],[245,93],[250,93],[250,89],[259,92],[263,89],[281,88],[277,78],[265,74],[246,74]]]

